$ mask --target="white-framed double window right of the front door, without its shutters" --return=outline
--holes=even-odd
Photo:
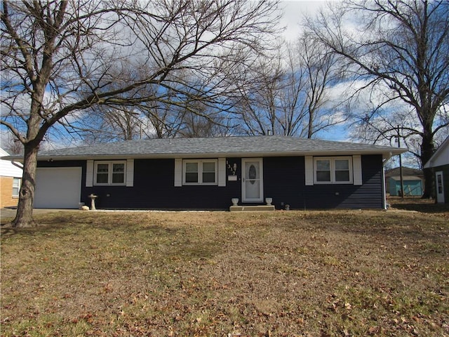
[[[315,157],[314,183],[351,184],[352,157]]]

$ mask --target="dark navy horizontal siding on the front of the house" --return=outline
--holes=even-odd
[[[382,208],[382,156],[361,157],[363,185],[305,185],[304,157],[264,157],[264,197],[276,209]],[[228,209],[231,199],[241,200],[241,158],[236,181],[225,187],[174,185],[174,159],[135,159],[134,186],[86,187],[86,161],[39,161],[39,167],[81,166],[81,201],[98,195],[99,209]],[[227,176],[232,172],[227,172]],[[241,203],[240,203],[241,204]]]

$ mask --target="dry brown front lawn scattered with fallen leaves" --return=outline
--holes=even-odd
[[[449,336],[445,211],[37,220],[2,229],[1,336]]]

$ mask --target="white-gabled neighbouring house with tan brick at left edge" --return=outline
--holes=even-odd
[[[0,148],[0,157],[8,152]],[[17,206],[19,200],[22,164],[11,160],[0,160],[0,208]]]

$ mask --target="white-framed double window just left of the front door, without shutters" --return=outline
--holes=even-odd
[[[217,185],[217,159],[182,161],[183,185]]]

